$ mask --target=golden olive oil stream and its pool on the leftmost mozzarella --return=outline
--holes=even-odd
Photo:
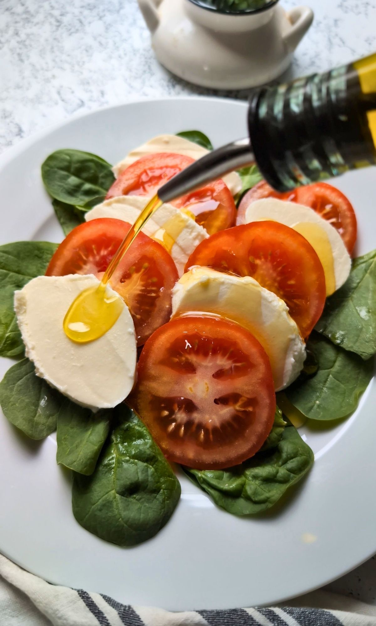
[[[108,281],[135,237],[160,206],[162,200],[155,195],[130,227],[98,287],[85,289],[73,300],[63,321],[65,334],[72,341],[80,344],[94,341],[109,331],[117,321],[123,310],[123,300],[120,295],[114,295],[108,290]]]

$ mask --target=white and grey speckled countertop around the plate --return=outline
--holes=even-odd
[[[286,8],[298,4],[281,1]],[[307,3],[315,21],[288,76],[375,52],[376,0]],[[0,0],[0,151],[78,111],[192,93],[219,92],[160,67],[136,0]],[[328,588],[376,604],[375,557]]]

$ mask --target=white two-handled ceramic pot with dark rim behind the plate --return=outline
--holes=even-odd
[[[157,59],[196,85],[242,89],[288,68],[310,28],[306,6],[284,11],[278,0],[248,13],[221,13],[197,0],[138,0]]]

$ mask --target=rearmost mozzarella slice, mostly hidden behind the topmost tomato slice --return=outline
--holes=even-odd
[[[184,139],[184,137],[178,137],[177,135],[158,135],[150,141],[143,143],[142,146],[138,146],[135,150],[132,150],[122,161],[118,162],[112,168],[113,173],[118,176],[128,167],[131,163],[137,161],[141,156],[155,154],[157,152],[172,152],[177,155],[191,156],[196,161],[201,156],[206,155],[209,150],[202,148],[198,143]],[[230,172],[222,179],[226,183],[227,187],[231,191],[232,195],[236,195],[241,190],[241,178],[236,172]]]

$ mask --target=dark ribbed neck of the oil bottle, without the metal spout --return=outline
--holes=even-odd
[[[376,54],[324,74],[254,90],[249,136],[279,191],[376,164]]]

